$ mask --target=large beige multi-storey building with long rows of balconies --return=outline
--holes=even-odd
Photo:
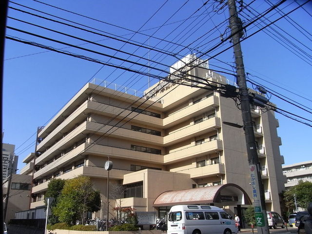
[[[180,63],[174,64],[171,72]],[[227,82],[208,69],[208,62],[188,74],[208,82]],[[110,88],[112,84],[105,81],[99,85],[87,83],[39,131],[36,156],[32,156],[35,162],[28,160],[35,168],[30,208],[44,205],[51,178],[84,175],[92,178],[103,200],[102,209],[95,216],[106,217],[108,173],[104,163],[108,159],[113,161],[110,183],[126,187],[123,207],[165,216],[169,207],[177,204],[161,199],[169,191],[186,195],[210,188],[224,188],[225,192],[219,193],[221,198],[205,198],[201,202],[224,206],[233,213],[237,202],[224,202],[227,199],[238,200],[247,207],[253,194],[244,131],[223,123],[242,125],[241,111],[233,99],[205,89],[208,86],[198,84],[198,80],[192,83],[198,87],[162,81],[146,90],[142,98],[130,89]],[[153,98],[148,98],[151,95]],[[278,120],[273,111],[263,112],[254,106],[252,116],[266,207],[280,213],[278,194],[284,190],[286,178],[279,152],[281,139],[276,131]],[[227,185],[233,186],[225,188]],[[115,206],[114,202],[110,205]],[[111,209],[109,212],[115,216]]]

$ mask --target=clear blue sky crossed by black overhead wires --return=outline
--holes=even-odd
[[[293,116],[296,119],[304,117],[300,120],[312,124],[312,3],[300,7],[305,1],[287,0],[257,17],[270,9],[271,2],[237,4],[238,10],[241,9],[239,17],[247,25],[241,42],[245,72],[250,74],[247,79],[288,101],[268,94],[267,98],[278,108],[297,115]],[[169,66],[190,53],[209,59],[210,69],[234,74],[233,49],[227,39],[229,13],[224,3],[213,0],[206,4],[203,0],[46,0],[44,3],[37,0],[9,3],[6,34],[10,39],[5,41],[2,132],[3,143],[16,145],[19,169],[25,165],[22,160],[35,150],[37,127],[46,125],[94,78],[144,91],[149,83],[159,81],[152,75],[166,77]],[[277,20],[286,13],[289,14]],[[255,21],[250,23],[252,20]],[[277,21],[271,27],[255,33],[274,20]],[[81,59],[86,57],[90,59]],[[129,60],[139,64],[133,65]],[[111,65],[140,70],[151,77]],[[233,75],[220,74],[234,84]],[[253,88],[251,83],[248,85]],[[279,120],[277,133],[282,139],[280,152],[285,165],[311,160],[311,126],[278,113],[275,117]]]

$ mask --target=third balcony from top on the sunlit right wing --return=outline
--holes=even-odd
[[[202,144],[189,146],[187,148],[172,151],[164,156],[164,163],[173,163],[181,159],[194,158],[198,156],[208,155],[216,151],[223,150],[222,140],[212,140],[203,142]]]

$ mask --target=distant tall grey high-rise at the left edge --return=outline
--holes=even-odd
[[[11,170],[16,174],[19,156],[14,154],[15,145],[2,143],[2,181],[10,175]]]

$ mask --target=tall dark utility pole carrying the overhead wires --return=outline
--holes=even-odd
[[[235,0],[228,0],[230,12],[230,28],[235,56],[237,83],[241,101],[243,127],[247,145],[247,156],[250,166],[251,186],[253,187],[254,212],[258,234],[270,234],[265,207],[264,189],[261,180],[260,164],[254,138],[254,128],[250,111],[250,101],[245,78],[243,55],[240,47],[240,38],[243,34],[241,20],[237,17]]]

